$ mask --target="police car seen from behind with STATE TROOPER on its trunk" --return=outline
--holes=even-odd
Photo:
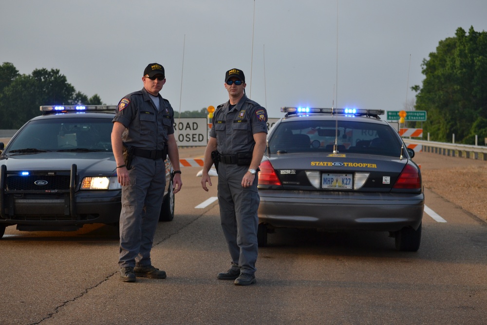
[[[258,242],[279,228],[388,231],[421,242],[419,167],[382,110],[283,107],[259,173]]]

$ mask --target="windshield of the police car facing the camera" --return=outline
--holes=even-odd
[[[112,151],[111,133],[112,120],[107,118],[35,120],[10,141],[7,149]]]

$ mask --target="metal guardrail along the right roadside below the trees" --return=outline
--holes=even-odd
[[[473,146],[467,144],[434,142],[407,138],[404,138],[404,142],[406,144],[419,144],[422,146],[422,151],[426,153],[438,153],[451,157],[487,160],[486,146]]]

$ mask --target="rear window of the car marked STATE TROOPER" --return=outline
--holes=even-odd
[[[270,153],[333,152],[399,156],[401,142],[389,125],[356,121],[280,123],[269,139]]]

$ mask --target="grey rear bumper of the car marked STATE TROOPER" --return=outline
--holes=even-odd
[[[417,229],[424,193],[259,190],[259,223],[276,228],[397,231]]]

